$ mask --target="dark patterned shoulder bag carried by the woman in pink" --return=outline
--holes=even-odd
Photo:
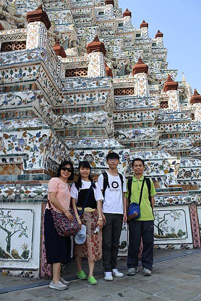
[[[54,225],[57,230],[57,233],[61,236],[76,235],[80,230],[80,227],[74,211],[72,209],[69,210],[69,212],[73,216],[73,221],[70,221],[65,214],[54,211],[49,200],[48,200],[48,204],[49,204],[49,209],[52,212],[52,217],[54,220]]]

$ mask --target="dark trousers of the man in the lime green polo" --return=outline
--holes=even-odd
[[[142,266],[152,270],[153,264],[153,221],[129,221],[129,246],[127,267],[138,266],[138,252],[142,237]]]

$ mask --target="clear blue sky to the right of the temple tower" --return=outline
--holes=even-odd
[[[168,68],[184,73],[186,81],[201,94],[201,0],[119,0],[119,8],[132,12],[132,25],[144,19],[149,38],[159,29],[168,50]]]

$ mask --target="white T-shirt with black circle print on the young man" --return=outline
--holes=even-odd
[[[103,201],[103,213],[118,213],[123,214],[123,197],[121,188],[121,179],[118,176],[111,176],[109,173],[108,182],[109,188],[107,186],[105,190],[105,196]],[[103,175],[98,177],[98,184],[100,189],[103,189]],[[126,179],[123,176],[123,192],[126,192]]]

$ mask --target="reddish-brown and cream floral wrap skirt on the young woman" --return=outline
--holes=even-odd
[[[98,211],[84,212],[80,219],[87,228],[87,238],[85,243],[75,244],[75,255],[88,257],[90,261],[97,261],[102,258],[102,230],[94,234],[98,222]]]

